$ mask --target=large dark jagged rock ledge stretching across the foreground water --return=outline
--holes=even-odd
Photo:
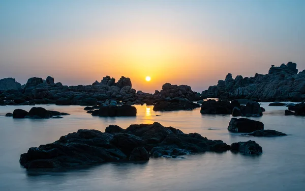
[[[198,133],[185,134],[173,127],[164,127],[160,123],[130,125],[127,129],[110,125],[106,132],[79,129],[69,133],[58,141],[39,147],[29,148],[21,154],[20,164],[26,169],[63,168],[110,161],[139,161],[149,157],[164,155],[176,157],[205,151],[223,152],[230,145],[220,140],[208,140]],[[240,144],[239,144],[240,145]],[[247,142],[242,142],[247,146]],[[234,151],[244,154],[257,154],[259,147],[236,148]]]

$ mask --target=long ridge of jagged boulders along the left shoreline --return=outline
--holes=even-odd
[[[1,86],[1,85],[0,85]],[[96,105],[99,100],[116,99],[132,100],[136,98],[136,90],[132,89],[131,80],[122,76],[117,83],[114,78],[106,76],[101,83],[93,85],[63,86],[54,83],[54,78],[48,76],[46,80],[32,77],[22,88],[0,92],[0,105]]]

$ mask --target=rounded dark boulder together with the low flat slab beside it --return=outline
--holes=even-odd
[[[260,121],[255,121],[247,118],[232,118],[230,120],[228,131],[230,132],[246,132],[254,137],[278,137],[287,135],[276,130],[264,129],[264,124]]]

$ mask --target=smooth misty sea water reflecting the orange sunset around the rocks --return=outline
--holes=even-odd
[[[64,119],[12,119],[15,108],[0,107],[0,190],[305,190],[305,117],[284,116],[284,106],[268,106],[262,121],[286,137],[242,137],[230,133],[231,116],[202,116],[194,111],[154,112],[153,106],[137,105],[137,117],[100,118],[82,106],[43,105],[47,110],[70,113]],[[161,116],[156,116],[161,115]],[[254,140],[263,148],[261,156],[206,152],[185,158],[151,158],[144,163],[105,163],[63,172],[26,171],[20,154],[29,147],[51,143],[78,129],[105,130],[110,124],[159,122],[190,133],[198,132],[227,144]],[[210,129],[211,130],[210,130]]]

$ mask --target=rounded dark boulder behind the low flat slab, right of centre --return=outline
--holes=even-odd
[[[264,124],[247,118],[232,118],[228,130],[231,132],[253,132],[264,129]]]

